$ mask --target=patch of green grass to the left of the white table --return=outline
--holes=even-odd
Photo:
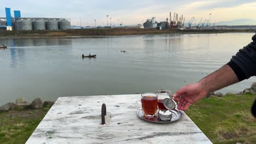
[[[0,143],[25,143],[48,110],[0,112]]]

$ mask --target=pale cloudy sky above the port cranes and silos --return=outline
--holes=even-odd
[[[229,21],[235,19],[256,20],[255,0],[91,0],[91,1],[67,1],[67,0],[1,0],[0,17],[5,17],[4,7],[13,10],[21,10],[22,17],[63,17],[71,18],[72,25],[82,26],[106,25],[107,17],[112,18],[112,23],[122,21],[124,25],[136,25],[146,19],[156,17],[156,21],[165,21],[170,17],[170,11],[179,15],[183,14],[185,21],[195,16],[197,22],[209,19],[211,22]],[[110,21],[109,21],[110,22]]]

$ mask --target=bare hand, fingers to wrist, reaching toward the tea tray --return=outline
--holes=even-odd
[[[205,97],[207,93],[202,88],[201,83],[197,82],[179,89],[173,97],[175,101],[179,101],[178,109],[185,111],[188,110],[191,104]]]

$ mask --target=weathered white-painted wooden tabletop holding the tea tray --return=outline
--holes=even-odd
[[[36,143],[212,143],[182,112],[179,121],[151,123],[137,117],[139,94],[60,97],[27,140]],[[101,125],[101,105],[111,113]]]

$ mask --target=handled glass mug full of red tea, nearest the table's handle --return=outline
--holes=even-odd
[[[137,100],[136,104],[141,102],[142,111],[146,117],[154,117],[158,111],[158,95],[156,93],[143,93],[141,100]]]

